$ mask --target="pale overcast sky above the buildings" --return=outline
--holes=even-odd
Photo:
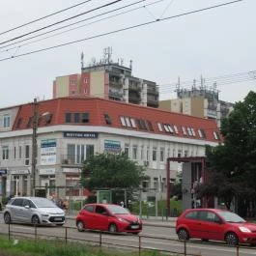
[[[80,72],[81,52],[87,66],[106,47],[113,62],[132,60],[134,76],[155,81],[159,100],[176,98],[178,79],[190,88],[201,77],[216,82],[220,100],[243,100],[256,89],[256,1],[229,2],[2,1],[0,108],[51,99],[55,77]]]

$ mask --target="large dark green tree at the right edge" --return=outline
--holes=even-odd
[[[220,130],[223,144],[207,148],[209,178],[198,190],[222,198],[228,208],[236,197],[246,210],[256,195],[256,93],[235,104]]]

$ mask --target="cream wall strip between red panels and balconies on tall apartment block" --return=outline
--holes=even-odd
[[[104,71],[91,72],[91,96],[104,97]]]

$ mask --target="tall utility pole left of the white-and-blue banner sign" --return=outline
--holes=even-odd
[[[32,162],[31,162],[31,185],[30,185],[31,196],[35,196],[35,187],[36,187],[36,170],[37,170],[37,156],[38,156],[37,131],[38,131],[38,101],[35,98],[33,102]]]

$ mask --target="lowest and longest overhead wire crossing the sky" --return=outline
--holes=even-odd
[[[186,12],[186,13],[183,13],[183,14],[176,14],[176,15],[172,15],[172,16],[168,16],[168,17],[164,17],[164,18],[157,18],[156,20],[153,20],[153,21],[148,21],[148,22],[140,23],[140,24],[137,24],[137,25],[121,28],[121,29],[110,31],[110,32],[106,32],[106,33],[102,33],[102,34],[99,34],[99,35],[96,35],[96,36],[92,36],[92,37],[88,37],[88,38],[72,41],[72,42],[69,42],[69,43],[61,43],[61,44],[45,47],[45,48],[42,48],[42,49],[21,53],[21,54],[15,55],[15,56],[11,56],[11,57],[8,57],[8,58],[0,59],[0,61],[6,61],[6,60],[14,59],[14,58],[17,58],[17,57],[31,55],[31,54],[34,54],[34,53],[43,52],[43,51],[46,51],[46,50],[50,50],[50,49],[54,49],[54,48],[58,48],[58,47],[62,47],[62,46],[67,46],[67,45],[71,45],[73,43],[80,43],[80,42],[84,42],[84,41],[88,41],[88,40],[92,40],[92,39],[96,39],[96,38],[112,35],[112,34],[115,34],[115,33],[131,30],[131,29],[135,29],[135,28],[138,28],[138,27],[150,25],[150,24],[153,24],[153,23],[156,23],[156,22],[166,21],[166,20],[173,19],[173,18],[178,18],[178,17],[185,16],[185,15],[188,15],[188,14],[196,14],[196,13],[201,13],[201,12],[213,10],[213,9],[216,9],[216,8],[224,7],[224,6],[235,4],[235,3],[238,3],[238,2],[242,2],[242,1],[243,0],[236,0],[236,1],[231,1],[231,2],[226,2],[226,3],[223,3],[223,4],[219,4],[219,5],[214,5],[214,6],[207,7],[207,8],[202,8],[202,9]]]

